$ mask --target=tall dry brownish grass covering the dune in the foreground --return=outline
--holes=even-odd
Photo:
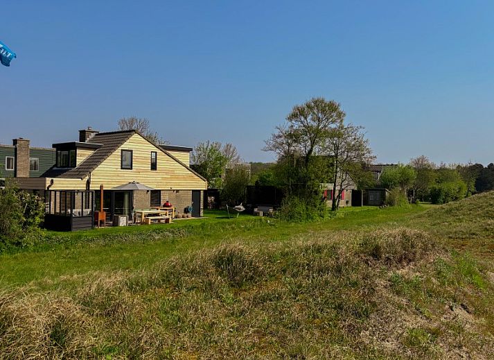
[[[390,332],[390,338],[385,331],[391,323],[405,329],[424,325],[427,312],[407,306],[407,301],[421,303],[416,296],[438,306],[427,298],[433,288],[425,282],[410,287],[407,275],[422,268],[432,284],[436,275],[429,267],[437,256],[429,235],[405,228],[308,234],[262,248],[222,245],[138,271],[92,273],[77,289],[4,292],[0,357],[448,356],[453,354],[448,342],[430,340],[425,330]],[[396,290],[394,274],[403,276],[396,284],[406,291]],[[437,294],[452,298],[448,291]],[[427,314],[430,323],[443,320],[441,311]],[[466,338],[481,336],[475,326]],[[470,354],[481,353],[478,343],[465,344]]]

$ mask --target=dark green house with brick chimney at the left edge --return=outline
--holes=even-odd
[[[39,178],[54,164],[54,148],[32,148],[28,139],[13,139],[12,145],[0,145],[0,186],[6,178]]]

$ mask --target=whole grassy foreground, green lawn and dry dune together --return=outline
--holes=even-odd
[[[1,256],[0,358],[488,359],[493,205],[52,234]]]

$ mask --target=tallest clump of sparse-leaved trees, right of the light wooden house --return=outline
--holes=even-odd
[[[312,98],[294,106],[286,123],[277,127],[267,140],[265,151],[278,155],[276,172],[284,179],[288,196],[317,206],[321,183],[331,182],[333,194],[339,187],[332,206],[337,209],[350,178],[360,178],[364,173],[362,164],[372,158],[369,142],[364,138],[363,128],[345,126],[344,117],[337,102]]]

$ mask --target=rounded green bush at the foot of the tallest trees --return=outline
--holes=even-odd
[[[327,214],[328,209],[319,198],[306,199],[298,196],[287,196],[276,212],[276,217],[283,221],[305,223],[319,221],[326,218]]]

